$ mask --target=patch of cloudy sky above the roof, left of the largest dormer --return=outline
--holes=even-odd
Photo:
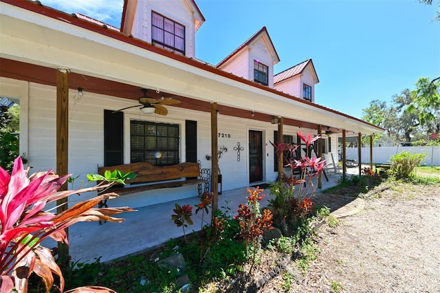
[[[123,0],[41,0],[41,3],[63,12],[85,14],[117,28],[124,5]]]

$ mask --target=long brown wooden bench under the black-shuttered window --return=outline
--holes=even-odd
[[[123,173],[135,173],[136,177],[126,182],[126,186],[111,188],[111,192],[118,195],[128,195],[141,191],[151,191],[159,188],[172,188],[198,184],[199,195],[209,191],[208,178],[201,178],[200,164],[184,162],[170,166],[155,166],[147,162],[105,166],[98,168],[98,174],[105,171],[120,170]],[[109,192],[107,191],[107,192]]]

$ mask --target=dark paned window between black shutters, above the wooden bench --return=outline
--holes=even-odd
[[[179,164],[179,125],[132,120],[130,134],[131,163]]]

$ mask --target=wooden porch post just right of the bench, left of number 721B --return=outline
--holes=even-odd
[[[212,191],[212,213],[219,208],[219,156],[217,150],[219,149],[219,142],[217,139],[217,102],[211,103],[211,157],[212,157],[212,178],[211,178],[211,191]]]

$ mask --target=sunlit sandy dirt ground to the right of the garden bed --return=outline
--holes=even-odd
[[[395,183],[365,202],[320,228],[320,255],[288,292],[440,292],[440,186]],[[286,281],[260,292],[286,291]]]

